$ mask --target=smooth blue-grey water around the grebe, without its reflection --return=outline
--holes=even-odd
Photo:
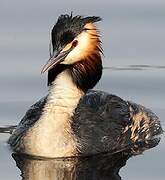
[[[0,0],[0,125],[17,124],[47,93],[47,77],[40,71],[49,58],[50,30],[59,15],[71,11],[103,19],[98,23],[103,64],[111,68],[104,70],[97,89],[150,107],[164,126],[165,0]],[[164,150],[161,145],[133,158],[122,177],[164,179]],[[0,179],[18,179],[6,149],[1,152]]]

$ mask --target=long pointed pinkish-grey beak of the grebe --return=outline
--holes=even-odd
[[[64,61],[66,56],[70,53],[71,50],[72,50],[72,47],[66,51],[60,50],[56,53],[54,52],[53,56],[50,57],[48,62],[42,68],[41,73],[44,73],[45,71],[52,69],[54,66],[56,66],[57,64],[60,64],[62,61]]]

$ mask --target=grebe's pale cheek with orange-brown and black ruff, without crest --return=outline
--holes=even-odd
[[[64,64],[58,64],[48,72],[48,84],[54,81],[56,75],[68,68],[70,69],[73,81],[77,86],[87,91],[92,89],[100,80],[102,74],[101,41],[96,26],[88,23],[84,26],[84,32],[78,35],[74,41],[67,44],[62,51],[67,51],[74,42],[78,42],[74,51],[72,51]],[[67,65],[67,62],[72,65]]]

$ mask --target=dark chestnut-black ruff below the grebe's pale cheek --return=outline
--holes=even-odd
[[[93,59],[97,59],[97,63],[93,64]],[[57,75],[66,69],[70,70],[70,74],[77,87],[86,92],[88,89],[92,89],[101,78],[101,57],[94,54],[88,61],[82,60],[74,65],[57,65],[48,72],[48,85],[51,85]]]

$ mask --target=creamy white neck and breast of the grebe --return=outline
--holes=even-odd
[[[49,89],[42,116],[22,139],[25,153],[46,157],[75,155],[76,139],[70,121],[82,96],[67,70],[58,75]]]

